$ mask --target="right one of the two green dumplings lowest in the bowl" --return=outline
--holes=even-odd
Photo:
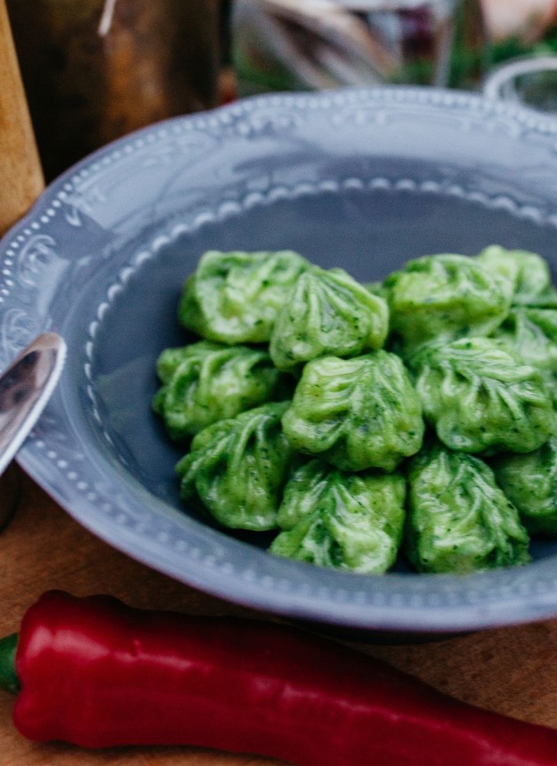
[[[418,571],[466,575],[526,564],[528,545],[518,511],[482,460],[438,444],[412,458],[405,546]]]

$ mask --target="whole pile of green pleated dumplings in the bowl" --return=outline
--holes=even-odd
[[[211,250],[152,406],[182,499],[274,555],[380,574],[529,561],[557,535],[557,290],[493,245],[364,286],[292,250]]]

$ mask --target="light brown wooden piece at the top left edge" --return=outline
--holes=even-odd
[[[0,0],[0,234],[44,186],[5,0]]]

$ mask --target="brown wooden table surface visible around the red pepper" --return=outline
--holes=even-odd
[[[74,522],[27,476],[21,476],[18,510],[0,534],[0,635],[17,630],[25,609],[49,588],[62,588],[77,595],[110,593],[137,607],[172,608],[193,614],[251,614],[113,550]],[[370,643],[359,649],[460,699],[557,728],[557,620],[487,630],[434,643],[398,646]],[[13,728],[11,705],[10,696],[0,692],[2,766],[272,763],[264,758],[190,748],[80,751],[67,745],[34,745]]]

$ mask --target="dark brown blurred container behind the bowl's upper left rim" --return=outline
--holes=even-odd
[[[106,142],[215,106],[218,0],[8,0],[48,179]]]

